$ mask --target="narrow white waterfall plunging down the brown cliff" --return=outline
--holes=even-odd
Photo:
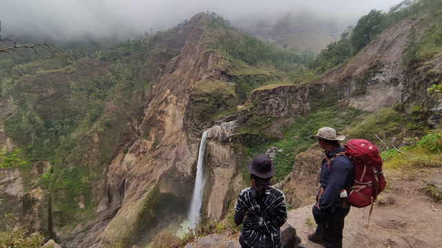
[[[202,205],[202,192],[204,190],[204,149],[206,147],[206,138],[209,130],[206,130],[201,137],[200,152],[198,154],[198,163],[196,166],[195,189],[191,200],[191,208],[189,210],[189,220],[191,228],[194,228],[200,217],[200,209]]]

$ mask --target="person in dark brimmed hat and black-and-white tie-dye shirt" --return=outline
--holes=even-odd
[[[242,223],[241,247],[280,247],[280,227],[287,221],[287,209],[284,193],[270,187],[275,167],[269,156],[258,154],[247,163],[247,171],[252,187],[242,189],[235,206],[235,223]]]

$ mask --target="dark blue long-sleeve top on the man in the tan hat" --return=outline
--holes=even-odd
[[[354,180],[354,167],[349,159],[345,156],[336,156],[338,152],[344,152],[343,147],[336,147],[332,152],[327,154],[321,163],[319,183],[325,189],[323,195],[319,200],[321,209],[342,206],[342,202],[338,202],[339,194],[345,187],[352,187]],[[332,159],[333,158],[333,159]],[[332,163],[329,167],[329,161]]]

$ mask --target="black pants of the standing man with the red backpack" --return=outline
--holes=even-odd
[[[320,221],[315,218],[316,232],[321,234],[325,247],[327,248],[342,248],[343,247],[343,230],[344,219],[350,209],[343,209],[335,207],[333,213],[325,210],[324,220]]]

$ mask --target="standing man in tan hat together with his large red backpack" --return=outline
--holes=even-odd
[[[378,148],[365,139],[351,139],[341,147],[339,141],[345,136],[336,134],[332,127],[320,128],[311,138],[318,140],[326,158],[320,164],[320,190],[312,209],[318,226],[307,238],[327,248],[342,247],[344,219],[350,206],[372,205],[369,221],[373,203],[387,185],[382,159]]]

